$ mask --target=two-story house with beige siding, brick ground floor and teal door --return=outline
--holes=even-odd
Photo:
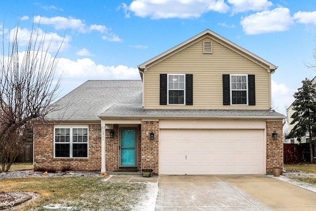
[[[57,101],[68,108],[35,128],[34,167],[271,173],[283,163],[276,68],[205,30],[139,65],[141,81],[87,81]]]

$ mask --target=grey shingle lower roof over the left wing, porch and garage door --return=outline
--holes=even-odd
[[[145,110],[142,81],[87,81],[54,106],[63,108],[48,120],[89,121],[100,118],[284,118],[270,110]]]

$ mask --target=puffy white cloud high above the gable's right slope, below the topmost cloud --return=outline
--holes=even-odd
[[[288,8],[279,7],[242,17],[240,24],[247,35],[257,35],[286,31],[293,24],[293,18]]]

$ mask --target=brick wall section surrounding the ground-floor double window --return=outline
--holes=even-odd
[[[101,169],[101,125],[89,125],[89,158],[53,158],[54,126],[36,125],[34,128],[34,169],[70,167],[73,170]]]

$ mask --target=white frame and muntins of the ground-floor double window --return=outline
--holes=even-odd
[[[70,141],[69,142],[55,142],[55,132],[56,132],[56,129],[57,128],[69,128],[70,129]],[[81,129],[81,128],[84,128],[84,129],[87,129],[87,157],[73,157],[73,144],[74,143],[85,143],[85,142],[73,142],[73,129]],[[56,152],[56,143],[69,143],[70,144],[70,147],[69,147],[69,157],[56,157],[55,156],[55,152]],[[89,158],[89,126],[77,126],[77,125],[56,125],[54,126],[54,143],[53,143],[53,151],[54,151],[54,157],[53,158],[61,158],[61,159],[64,159],[64,158],[67,158],[67,159],[87,159]]]

